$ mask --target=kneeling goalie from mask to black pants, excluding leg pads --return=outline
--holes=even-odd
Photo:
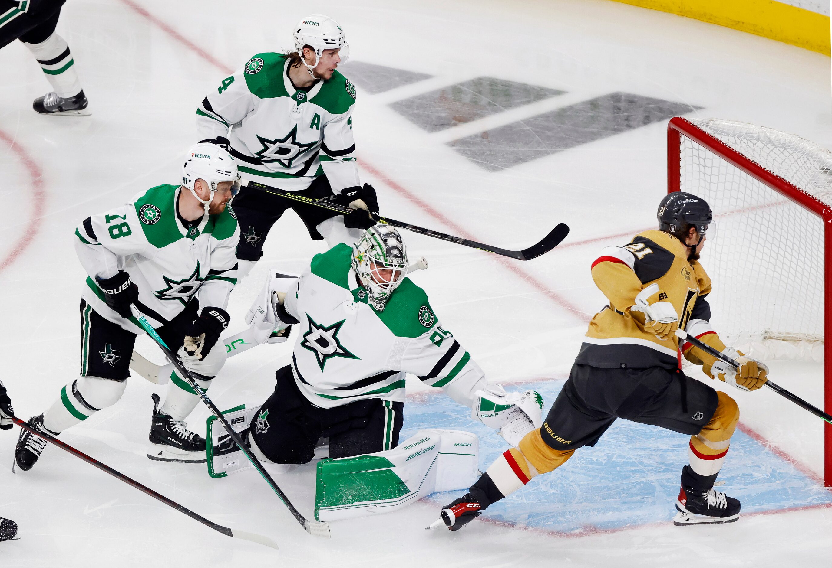
[[[540,425],[534,391],[488,384],[468,352],[445,330],[428,296],[405,274],[408,256],[387,225],[350,247],[317,254],[299,278],[272,273],[247,323],[258,343],[275,329],[300,328],[292,362],[255,413],[248,442],[260,460],[310,462],[319,438],[329,457],[393,449],[403,422],[405,373],[442,388],[472,415],[516,444]],[[256,335],[256,334],[255,334]]]

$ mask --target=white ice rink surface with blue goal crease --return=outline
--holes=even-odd
[[[669,116],[747,121],[832,147],[828,57],[601,0],[518,6],[72,0],[58,32],[90,100],[86,118],[37,116],[31,102],[47,81],[19,42],[2,49],[0,341],[17,413],[42,412],[77,376],[74,227],[174,182],[198,140],[198,102],[255,53],[290,47],[290,26],[307,12],[347,33],[356,147],[384,214],[513,249],[571,226],[527,263],[405,235],[410,254],[428,258],[413,278],[443,327],[490,380],[539,388],[544,410],[605,304],[589,273],[597,250],[655,225]],[[267,269],[300,270],[323,249],[285,215],[231,296],[229,333],[244,327]],[[231,358],[211,398],[261,402],[288,353],[284,344]],[[820,404],[819,366],[771,366],[778,383]],[[465,408],[412,386],[402,439],[418,427],[476,431],[483,469],[505,449]],[[620,421],[465,531],[423,530],[457,495],[439,494],[335,521],[330,541],[307,536],[252,471],[211,479],[204,465],[149,461],[150,393],[163,391],[134,376],[120,403],[62,440],[212,521],[273,536],[280,553],[220,536],[54,447],[14,475],[15,428],[0,432],[0,516],[17,521],[21,540],[0,544],[0,566],[828,566],[832,553],[820,420],[767,389],[731,392],[742,416],[719,489],[743,501],[736,523],[672,526],[686,437]],[[189,425],[204,432],[206,417],[199,406]],[[311,513],[314,464],[277,481]]]

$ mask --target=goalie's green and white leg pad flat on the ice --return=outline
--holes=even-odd
[[[318,462],[315,519],[334,521],[397,511],[434,491],[470,486],[478,476],[471,432],[419,430],[401,446]]]

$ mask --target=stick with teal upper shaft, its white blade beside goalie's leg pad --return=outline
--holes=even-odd
[[[303,526],[306,532],[310,533],[312,536],[323,536],[324,538],[329,538],[329,525],[325,522],[320,521],[310,521],[305,516],[300,514],[300,511],[295,509],[295,506],[292,505],[291,501],[289,501],[289,497],[285,495],[285,493],[277,487],[275,480],[271,478],[269,472],[266,472],[263,468],[263,464],[260,463],[250,451],[250,449],[245,445],[245,442],[242,441],[240,438],[240,434],[235,432],[235,429],[231,427],[228,419],[225,418],[225,415],[220,412],[220,409],[216,407],[216,405],[208,398],[208,395],[202,388],[200,387],[199,383],[196,383],[196,379],[191,375],[191,372],[185,368],[185,365],[182,364],[180,358],[176,353],[172,352],[170,348],[162,341],[159,334],[156,333],[156,329],[151,326],[151,324],[145,319],[143,315],[141,315],[133,306],[133,315],[135,316],[132,318],[136,320],[139,325],[147,332],[148,335],[153,338],[153,341],[161,348],[162,352],[165,353],[165,356],[168,361],[173,363],[173,366],[176,368],[177,371],[181,374],[182,377],[186,378],[187,382],[191,385],[191,388],[194,389],[194,392],[202,399],[203,403],[206,403],[206,406],[210,409],[210,411],[214,414],[220,422],[222,422],[223,427],[225,427],[225,432],[228,432],[228,435],[234,440],[237,447],[245,453],[245,457],[249,459],[251,465],[255,467],[260,476],[265,479],[265,481],[269,484],[273,491],[280,497],[280,501],[283,501],[283,504],[289,509],[292,516],[295,517],[295,520],[300,523],[300,526]]]

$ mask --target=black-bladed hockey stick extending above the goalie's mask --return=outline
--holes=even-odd
[[[316,200],[313,197],[307,197],[305,195],[291,193],[290,191],[280,190],[276,187],[270,187],[269,185],[257,183],[256,181],[240,180],[240,185],[244,185],[245,187],[250,187],[255,190],[265,191],[265,193],[270,193],[271,195],[280,195],[280,197],[285,197],[288,200],[299,201],[300,203],[305,203],[306,205],[321,207],[325,210],[334,211],[334,213],[338,213],[339,215],[349,215],[354,211],[354,209],[344,205],[339,205],[333,201]],[[409,223],[404,223],[404,221],[397,221],[395,219],[390,219],[389,217],[382,217],[378,214],[370,215],[374,220],[384,225],[392,225],[394,227],[399,227],[399,229],[413,231],[419,235],[428,235],[429,237],[433,237],[435,239],[448,240],[452,243],[462,244],[463,246],[469,246],[473,249],[485,250],[489,253],[500,254],[502,256],[508,256],[518,260],[531,260],[537,258],[541,254],[546,254],[550,250],[554,249],[558,244],[561,244],[561,241],[566,239],[567,235],[569,235],[569,227],[566,224],[561,223],[549,231],[549,234],[543,237],[539,243],[532,244],[532,246],[527,249],[508,250],[501,249],[490,244],[478,243],[476,240],[468,240],[463,239],[462,237],[446,235],[445,233],[440,233],[435,230],[425,229],[417,225],[410,225]]]

